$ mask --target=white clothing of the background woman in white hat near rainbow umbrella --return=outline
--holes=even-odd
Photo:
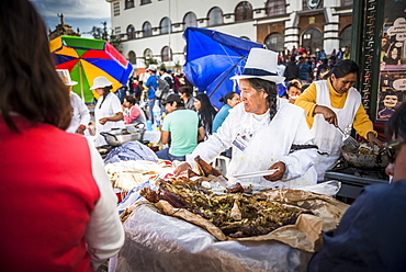
[[[104,125],[100,124],[99,120],[103,117],[112,117],[117,112],[123,112],[123,109],[120,103],[120,99],[114,93],[109,93],[105,97],[103,104],[100,107],[103,98],[100,97],[98,103],[94,107],[94,118],[95,118],[95,129],[97,129],[97,139],[95,139],[95,147],[108,145],[104,137],[100,135],[101,132],[108,132],[112,128],[125,128],[124,121],[111,122],[108,121]]]

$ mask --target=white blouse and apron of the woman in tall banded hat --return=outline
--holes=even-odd
[[[290,154],[292,144],[313,145],[313,134],[305,121],[303,109],[290,104],[287,100],[278,99],[278,113],[270,122],[269,112],[263,115],[247,113],[240,103],[229,111],[217,133],[214,133],[204,143],[198,145],[187,161],[195,167],[194,158],[200,156],[211,162],[224,149],[233,147],[233,159],[227,167],[229,184],[240,182],[243,185],[263,188],[290,188],[315,184],[317,174],[312,167],[316,157],[316,149],[303,149]],[[250,140],[236,145],[238,135],[249,136]],[[238,141],[244,143],[244,141]],[[243,150],[241,150],[243,149]],[[274,162],[283,161],[286,171],[282,181],[270,182],[262,177],[235,179],[235,174],[268,170]]]

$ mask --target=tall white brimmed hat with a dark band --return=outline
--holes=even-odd
[[[260,78],[275,83],[283,82],[285,78],[278,75],[278,53],[263,48],[251,48],[243,73],[230,79],[248,78]]]

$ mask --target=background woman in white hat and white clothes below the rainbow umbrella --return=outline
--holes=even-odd
[[[125,128],[123,107],[120,99],[111,92],[111,89],[113,89],[112,84],[105,77],[98,77],[93,80],[93,86],[90,88],[90,90],[94,90],[100,95],[94,107],[98,133],[94,145],[97,147],[108,144],[104,137],[100,135],[101,132],[108,132],[112,128]]]

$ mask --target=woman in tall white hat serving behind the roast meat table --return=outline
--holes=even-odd
[[[278,76],[278,54],[252,48],[239,80],[243,103],[230,110],[229,115],[208,139],[200,144],[187,162],[180,165],[174,174],[193,167],[199,155],[207,162],[224,149],[233,147],[232,161],[227,168],[230,184],[280,189],[316,183],[313,168],[316,148],[307,127],[303,109],[278,97],[277,83],[284,77]],[[240,173],[274,169],[269,175],[235,178]]]

